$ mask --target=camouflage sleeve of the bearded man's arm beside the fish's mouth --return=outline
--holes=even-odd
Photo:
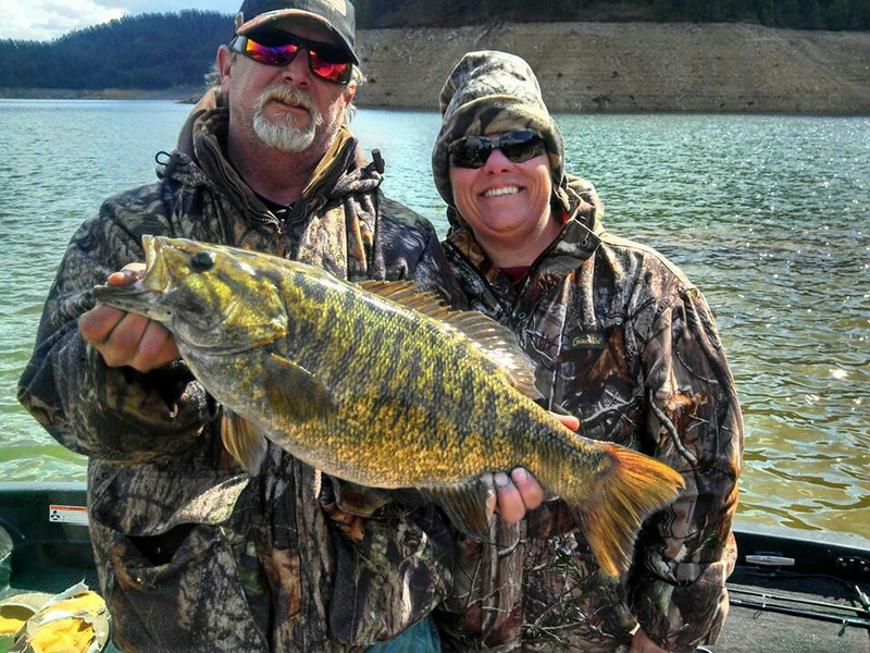
[[[82,337],[78,318],[95,305],[91,288],[144,260],[140,233],[125,230],[123,205],[108,200],[70,242],[46,300],[18,399],[67,448],[113,463],[166,458],[190,447],[208,402],[183,362],[139,373],[109,368]],[[167,231],[160,219],[138,221]],[[149,230],[150,231],[150,230]]]

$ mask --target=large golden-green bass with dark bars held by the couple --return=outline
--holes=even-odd
[[[488,533],[487,471],[524,466],[571,508],[600,567],[624,570],[641,522],[683,485],[670,467],[562,426],[532,397],[508,329],[407,282],[347,283],[303,263],[145,236],[146,273],[98,300],[162,322],[224,407],[256,472],[265,440],[370,488],[417,489]],[[539,395],[537,395],[539,396]]]

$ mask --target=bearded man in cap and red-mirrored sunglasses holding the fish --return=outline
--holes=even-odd
[[[60,266],[18,397],[90,458],[90,532],[123,650],[359,650],[420,621],[449,589],[434,509],[346,519],[337,507],[371,513],[366,492],[273,445],[249,477],[172,336],[90,293],[136,278],[144,234],[451,292],[436,233],[383,196],[345,124],[358,63],[345,0],[246,0],[217,52],[220,86],[160,181],[109,198]]]

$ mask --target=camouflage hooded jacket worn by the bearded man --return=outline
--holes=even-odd
[[[273,445],[256,478],[236,466],[216,429],[221,407],[182,361],[145,374],[108,368],[76,326],[94,306],[89,288],[144,260],[142,234],[457,292],[435,231],[383,196],[347,130],[282,221],[224,159],[227,110],[210,99],[160,181],[111,197],[73,236],[18,397],[90,457],[90,530],[121,649],[360,650],[421,619],[449,589],[451,542],[437,514],[387,506],[351,541],[324,515],[331,479]]]

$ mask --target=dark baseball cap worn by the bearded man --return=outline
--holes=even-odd
[[[245,0],[236,14],[236,34],[246,36],[264,28],[293,32],[300,22],[326,27],[359,65],[353,51],[356,19],[350,0]]]

